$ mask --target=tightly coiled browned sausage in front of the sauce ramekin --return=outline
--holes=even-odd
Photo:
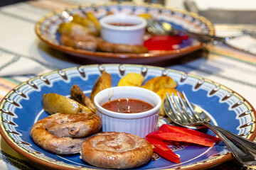
[[[105,169],[131,169],[149,162],[154,147],[124,132],[100,132],[82,143],[82,160]]]

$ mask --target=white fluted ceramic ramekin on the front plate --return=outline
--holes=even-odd
[[[102,108],[104,103],[118,98],[134,98],[154,106],[142,113],[117,113]],[[96,113],[102,118],[103,132],[127,132],[139,137],[145,137],[149,132],[157,130],[161,98],[147,89],[135,86],[116,86],[96,94]]]

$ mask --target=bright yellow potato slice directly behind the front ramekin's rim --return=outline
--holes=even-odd
[[[142,86],[144,76],[139,73],[129,73],[118,81],[117,86]]]

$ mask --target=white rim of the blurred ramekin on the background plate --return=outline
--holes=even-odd
[[[117,20],[122,20],[125,18],[130,18],[136,21],[139,21],[141,23],[137,24],[136,26],[111,26],[110,24],[107,23],[107,21],[110,21],[111,19],[116,18]],[[102,26],[102,28],[107,28],[110,30],[140,30],[142,28],[146,28],[146,20],[140,16],[132,16],[132,15],[128,15],[128,14],[115,14],[115,15],[110,15],[110,16],[105,16],[103,18],[100,19],[100,26]]]

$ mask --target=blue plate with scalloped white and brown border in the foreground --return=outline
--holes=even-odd
[[[172,77],[178,83],[177,89],[185,91],[192,103],[203,108],[212,118],[213,124],[250,140],[256,135],[255,109],[245,98],[221,84],[162,67],[95,64],[43,74],[10,91],[0,105],[0,132],[4,140],[16,152],[38,164],[55,169],[98,169],[82,162],[80,154],[61,157],[46,152],[31,140],[29,132],[36,121],[48,116],[42,108],[43,94],[57,93],[69,96],[70,87],[78,84],[85,94],[90,95],[95,80],[103,70],[112,75],[112,86],[116,86],[119,79],[129,72],[143,74],[145,81],[161,75]],[[164,119],[159,120],[159,125],[161,123],[164,123]],[[210,130],[206,132],[214,135]],[[139,169],[206,169],[232,158],[223,142],[216,143],[214,147],[178,145],[171,148],[181,157],[182,164],[174,164],[160,158]]]

